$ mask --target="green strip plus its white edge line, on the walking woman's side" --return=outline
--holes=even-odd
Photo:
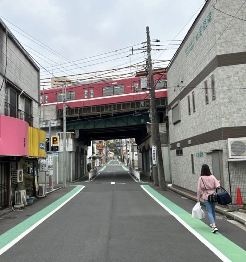
[[[141,187],[222,261],[245,262],[246,251],[244,249],[240,248],[219,232],[212,234],[208,225],[200,219],[192,218],[190,213],[159,194],[152,187],[148,185],[142,185]]]

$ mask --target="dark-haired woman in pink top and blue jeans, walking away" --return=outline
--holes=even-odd
[[[216,194],[216,188],[220,186],[220,181],[215,178],[210,172],[209,166],[204,164],[201,169],[201,176],[197,183],[197,202],[200,202],[200,195],[204,199],[204,204],[208,212],[208,218],[210,220],[210,227],[212,227],[212,233],[216,233],[218,228],[215,224],[215,202],[208,202],[208,195]]]

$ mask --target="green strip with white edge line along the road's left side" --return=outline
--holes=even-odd
[[[10,230],[0,235],[0,256],[18,241],[20,241],[24,236],[34,230],[35,227],[40,225],[66,203],[68,203],[84,188],[85,186],[76,186],[69,193],[65,194],[54,203],[50,204],[41,211],[30,216],[15,227],[12,227]]]

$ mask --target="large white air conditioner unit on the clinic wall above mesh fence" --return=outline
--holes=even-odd
[[[228,138],[229,158],[246,158],[246,137]]]

